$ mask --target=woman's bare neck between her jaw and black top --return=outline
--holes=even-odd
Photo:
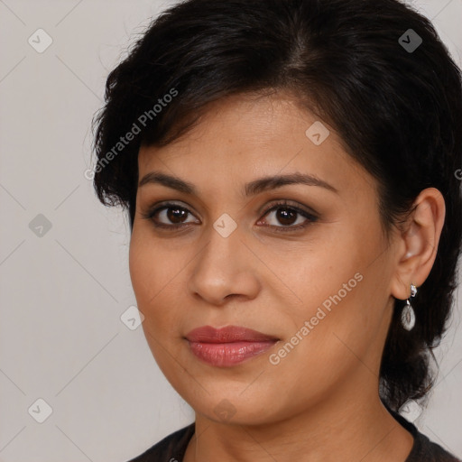
[[[377,387],[371,386],[375,380],[365,369],[349,390],[343,387],[299,413],[263,425],[217,422],[197,412],[184,462],[405,462],[412,436],[384,408]]]

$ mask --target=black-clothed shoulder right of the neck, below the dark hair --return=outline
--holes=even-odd
[[[413,425],[410,421],[405,420],[401,415],[393,412],[393,417],[398,420],[402,427],[408,430],[414,438],[414,444],[411,449],[411,454],[405,462],[461,462],[460,459],[454,457],[439,444],[430,441],[423,433]]]

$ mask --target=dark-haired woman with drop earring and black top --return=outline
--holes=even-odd
[[[131,224],[193,424],[134,460],[454,461],[429,392],[457,285],[460,71],[396,0],[189,0],[110,74],[95,187]]]

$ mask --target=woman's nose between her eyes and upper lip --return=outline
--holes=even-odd
[[[212,226],[208,242],[193,260],[189,292],[209,304],[222,306],[227,300],[252,300],[260,291],[256,271],[258,259],[242,240],[239,227],[227,237]]]

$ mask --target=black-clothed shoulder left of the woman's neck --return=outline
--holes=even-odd
[[[149,448],[143,454],[129,462],[157,462],[164,460],[165,462],[181,462],[189,440],[192,438],[195,430],[195,423],[191,423],[187,427],[177,430],[165,437],[152,448]]]

